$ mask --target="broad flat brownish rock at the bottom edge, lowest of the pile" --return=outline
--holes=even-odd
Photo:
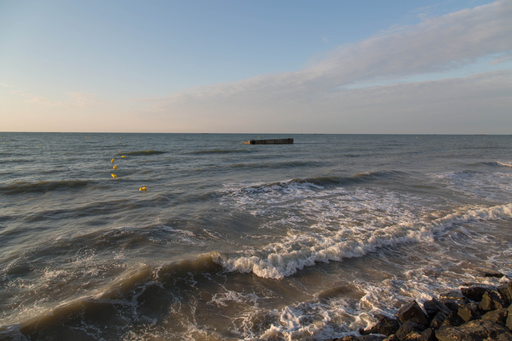
[[[446,327],[436,332],[439,341],[483,341],[483,340],[512,340],[512,333],[507,328],[494,322],[467,322],[460,327]]]

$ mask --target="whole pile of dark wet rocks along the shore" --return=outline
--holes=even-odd
[[[502,278],[502,273],[486,272]],[[423,304],[402,306],[395,318],[378,315],[361,336],[344,336],[325,341],[512,341],[512,282],[499,286],[464,283]]]

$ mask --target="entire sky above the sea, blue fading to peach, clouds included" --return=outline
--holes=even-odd
[[[0,0],[0,131],[512,134],[512,0]]]

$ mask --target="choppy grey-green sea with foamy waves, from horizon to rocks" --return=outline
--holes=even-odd
[[[323,340],[498,284],[480,271],[512,278],[511,151],[508,135],[0,133],[0,339]]]

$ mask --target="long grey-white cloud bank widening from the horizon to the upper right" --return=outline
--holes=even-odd
[[[198,122],[204,122],[204,127],[199,129],[209,127],[210,131],[229,132],[241,126],[245,127],[244,131],[269,131],[274,127],[277,131],[292,131],[292,127],[301,129],[301,126],[304,130],[304,126],[320,127],[317,121],[321,119],[356,122],[347,117],[353,115],[349,114],[350,110],[360,115],[372,112],[379,115],[375,122],[386,121],[380,118],[387,117],[387,122],[391,123],[391,120],[408,120],[408,117],[394,114],[403,113],[404,105],[414,108],[411,112],[422,121],[423,117],[434,116],[421,111],[411,98],[446,114],[446,111],[453,112],[456,99],[459,108],[466,108],[462,101],[473,103],[474,98],[481,97],[478,91],[489,98],[493,94],[486,89],[502,93],[501,86],[509,91],[510,73],[503,71],[368,90],[347,87],[354,83],[447,71],[489,55],[509,53],[512,50],[510,17],[512,2],[499,1],[430,17],[416,26],[393,28],[356,44],[341,46],[303,70],[201,86],[138,101],[150,105],[144,115],[149,113],[163,123],[189,131],[194,131]],[[463,96],[460,89],[477,97]],[[425,97],[425,93],[430,96]],[[507,96],[498,98],[499,103],[491,103],[492,107],[499,112],[501,105],[509,102]],[[435,103],[447,106],[443,109]],[[371,108],[384,104],[389,109],[381,113]],[[369,115],[365,117],[371,119]],[[354,123],[354,126],[359,125]],[[364,132],[362,126],[360,132]]]

